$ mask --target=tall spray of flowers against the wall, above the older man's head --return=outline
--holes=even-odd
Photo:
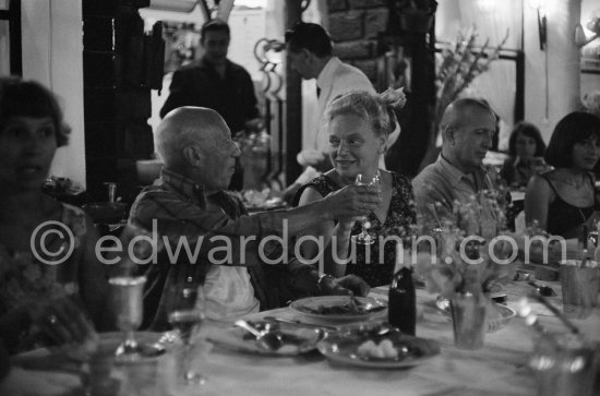
[[[456,41],[442,49],[441,57],[437,58],[434,137],[436,137],[446,107],[458,98],[458,95],[469,86],[475,77],[485,72],[490,68],[490,63],[499,58],[502,46],[508,38],[508,32],[495,47],[490,47],[489,38],[485,39],[483,46],[478,46],[477,36],[475,26],[467,34],[459,32]],[[435,142],[435,139],[431,142]]]

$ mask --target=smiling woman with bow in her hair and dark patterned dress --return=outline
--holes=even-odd
[[[329,221],[307,230],[303,236],[323,238],[323,243],[298,239],[301,259],[314,260],[325,248],[325,273],[334,276],[355,274],[370,286],[387,285],[396,263],[396,243],[385,238],[396,236],[408,240],[416,224],[410,181],[393,171],[380,168],[380,157],[387,149],[387,136],[396,127],[395,108],[401,108],[406,97],[401,89],[383,94],[352,91],[335,98],[326,111],[329,135],[328,155],[333,169],[304,184],[295,203],[305,205],[321,200],[345,185],[355,184],[360,173],[368,179],[379,177],[381,202],[367,221],[372,244],[356,243],[363,229],[362,218]]]

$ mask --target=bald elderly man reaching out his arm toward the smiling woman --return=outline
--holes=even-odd
[[[242,202],[225,191],[240,151],[223,118],[206,108],[169,112],[157,128],[156,148],[165,167],[130,213],[131,221],[148,230],[154,223],[158,235],[168,237],[160,263],[141,268],[148,277],[145,325],[165,326],[163,291],[189,277],[205,279],[213,319],[280,307],[303,296],[368,293],[367,284],[355,276],[334,279],[298,261],[274,264],[291,254],[285,243],[263,240],[283,237],[285,242],[321,221],[363,216],[380,201],[375,191],[351,185],[311,205],[249,216]],[[167,256],[182,240],[192,252],[199,248],[197,255],[190,256],[182,247],[177,257]]]

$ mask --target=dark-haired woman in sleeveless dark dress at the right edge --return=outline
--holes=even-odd
[[[545,161],[555,169],[533,176],[525,195],[525,218],[550,235],[579,238],[598,211],[593,167],[600,158],[600,119],[572,112],[554,129]]]

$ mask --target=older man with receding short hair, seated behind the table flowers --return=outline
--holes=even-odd
[[[417,211],[429,228],[448,221],[480,233],[468,229],[472,224],[457,224],[460,219],[456,218],[454,206],[456,202],[471,202],[482,190],[495,189],[494,175],[482,165],[492,146],[495,124],[494,112],[478,99],[460,98],[445,109],[441,122],[442,153],[412,180]],[[492,211],[482,216],[495,220]]]

